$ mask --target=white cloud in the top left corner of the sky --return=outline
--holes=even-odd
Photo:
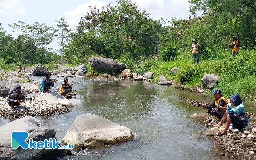
[[[25,8],[21,7],[21,0],[0,0],[0,15],[6,17],[24,16]]]

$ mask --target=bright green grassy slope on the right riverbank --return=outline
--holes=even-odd
[[[148,65],[141,64],[141,71],[154,72],[152,81],[159,81],[160,75],[168,80],[182,82],[186,87],[203,87],[201,78],[207,73],[213,73],[221,77],[215,88],[221,88],[224,96],[230,97],[238,93],[243,99],[256,100],[256,51],[241,51],[233,58],[231,52],[217,52],[215,59],[200,59],[200,64],[194,66],[191,53],[180,52],[175,61],[151,61]],[[169,70],[179,67],[176,75],[170,75]],[[178,83],[176,83],[177,85]],[[214,90],[214,88],[212,89]]]

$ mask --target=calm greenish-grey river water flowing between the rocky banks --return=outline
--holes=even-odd
[[[38,76],[30,78],[38,82],[42,79]],[[63,81],[63,78],[58,80]],[[57,82],[54,88],[60,87],[61,83]],[[59,158],[61,160],[224,159],[215,147],[216,142],[204,135],[204,131],[209,128],[205,128],[201,121],[189,117],[196,112],[206,113],[207,110],[197,106],[187,107],[189,104],[185,102],[189,100],[180,96],[208,103],[212,102],[212,97],[144,81],[90,81],[74,78],[73,84],[76,98],[70,99],[75,105],[70,108],[70,112],[37,117],[48,128],[56,130],[58,140],[65,136],[76,116],[85,113],[97,114],[128,127],[135,138],[104,149],[81,151],[70,157]],[[10,120],[0,119],[0,125]]]

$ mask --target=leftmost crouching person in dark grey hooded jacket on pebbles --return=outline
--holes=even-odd
[[[16,83],[14,89],[10,90],[7,101],[12,111],[15,111],[14,106],[20,107],[20,104],[25,101],[25,96],[21,90],[20,84]]]

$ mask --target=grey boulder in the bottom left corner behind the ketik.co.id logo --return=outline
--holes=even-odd
[[[33,141],[44,141],[55,138],[56,134],[54,129],[48,129],[38,119],[31,116],[2,125],[0,126],[0,160],[39,160],[46,157],[51,159],[64,155],[64,150],[61,149],[23,149],[21,146],[17,149],[12,149],[11,144],[15,144],[13,141],[17,143],[16,145],[20,145],[17,137],[11,137],[14,131],[28,132],[27,143],[29,143],[30,138]]]

